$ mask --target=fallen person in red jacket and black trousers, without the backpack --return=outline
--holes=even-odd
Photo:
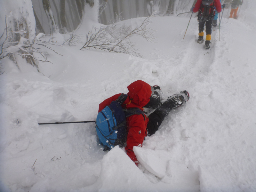
[[[129,92],[127,93],[127,98],[124,100],[124,102],[122,102],[122,108],[127,110],[131,108],[139,108],[141,110],[141,113],[143,113],[142,111],[144,110],[144,108],[156,109],[149,116],[145,116],[144,113],[143,115],[140,115],[139,113],[132,114],[131,116],[126,117],[127,139],[125,150],[127,155],[138,166],[139,162],[137,161],[137,158],[133,152],[133,147],[141,147],[144,138],[147,135],[153,135],[158,130],[159,126],[164,120],[164,117],[167,116],[172,109],[184,105],[189,100],[189,93],[187,91],[181,91],[180,94],[172,95],[163,104],[161,104],[161,90],[159,86],[155,85],[152,87],[146,82],[138,80],[130,84],[127,88]],[[122,94],[119,93],[113,95],[112,97],[100,103],[99,114],[106,106],[109,106],[112,101],[120,98],[119,96],[122,96]],[[97,126],[96,129],[98,129]],[[100,132],[97,133],[99,136]]]

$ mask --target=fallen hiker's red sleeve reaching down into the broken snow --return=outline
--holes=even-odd
[[[145,121],[142,115],[132,115],[127,119],[128,135],[125,149],[127,151],[126,154],[136,165],[138,165],[138,160],[133,152],[133,147],[142,146],[143,140],[147,136],[147,124],[148,117]]]

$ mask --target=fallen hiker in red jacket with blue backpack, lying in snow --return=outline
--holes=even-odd
[[[138,165],[133,147],[141,147],[144,138],[147,135],[153,135],[158,130],[164,117],[173,108],[184,105],[188,101],[189,94],[187,91],[182,91],[180,94],[172,95],[161,104],[159,94],[161,90],[159,86],[155,85],[152,87],[144,81],[138,80],[130,84],[127,88],[129,91],[127,95],[119,93],[100,103],[99,114],[96,120],[96,131],[104,150],[108,151],[116,145],[124,147],[126,142],[126,154]],[[143,112],[144,107],[156,108],[156,110],[149,116],[146,116],[144,114],[145,112]],[[120,111],[117,113],[118,110]],[[118,116],[121,115],[122,111],[126,111],[125,124],[118,122]],[[104,127],[104,124],[106,127]],[[123,126],[125,126],[125,130],[122,130]],[[125,137],[120,136],[124,134],[122,131],[125,132]],[[115,133],[117,137],[111,138]]]

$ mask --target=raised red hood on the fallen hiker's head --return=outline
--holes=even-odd
[[[146,82],[141,80],[134,81],[127,88],[129,90],[129,92],[127,93],[129,98],[127,98],[126,102],[128,101],[128,99],[129,101],[132,100],[130,104],[126,105],[127,108],[142,108],[149,102],[152,91],[150,85]]]

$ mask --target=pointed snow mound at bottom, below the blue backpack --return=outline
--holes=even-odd
[[[95,191],[95,188],[97,191],[144,191],[151,185],[125,152],[116,146],[104,155],[97,182],[84,191]]]

